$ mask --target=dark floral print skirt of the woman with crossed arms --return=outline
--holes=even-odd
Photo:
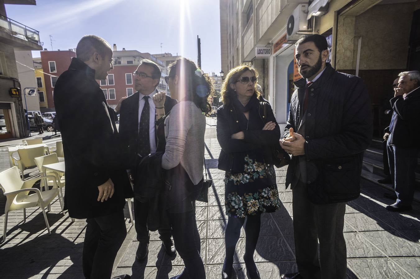
[[[270,184],[270,181],[273,184]],[[280,209],[276,173],[272,165],[245,157],[244,173],[226,173],[226,215],[244,218]]]

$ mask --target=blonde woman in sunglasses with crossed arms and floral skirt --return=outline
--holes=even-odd
[[[240,65],[223,82],[217,112],[217,139],[222,148],[218,168],[225,174],[226,258],[222,278],[231,278],[236,243],[244,225],[244,262],[249,279],[260,278],[254,252],[260,235],[261,214],[280,209],[271,147],[281,132],[270,105],[256,90],[257,71]],[[246,221],[246,222],[245,222]]]

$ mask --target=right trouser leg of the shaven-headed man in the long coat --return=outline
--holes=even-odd
[[[127,235],[123,209],[94,218],[100,227],[100,238],[93,258],[90,279],[111,278],[118,250]]]

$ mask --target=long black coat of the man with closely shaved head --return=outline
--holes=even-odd
[[[122,148],[115,126],[115,111],[108,106],[95,80],[95,70],[73,58],[54,88],[54,104],[66,156],[65,207],[74,218],[111,214],[132,197],[126,173],[128,152]],[[97,202],[97,186],[109,178],[115,193]]]

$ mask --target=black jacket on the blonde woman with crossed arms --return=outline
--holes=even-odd
[[[261,97],[259,101],[268,103],[267,100]],[[267,119],[265,119],[260,102],[257,103],[257,106],[262,124],[264,125],[268,121],[273,121],[277,124],[269,104],[267,105]],[[218,168],[227,172],[244,171],[243,160],[234,160],[235,154],[256,149],[261,149],[264,153],[264,163],[273,164],[271,147],[278,144],[278,140],[281,137],[280,127],[276,125],[276,128],[272,131],[241,131],[238,124],[238,113],[241,112],[237,112],[231,103],[223,105],[217,110],[217,139],[222,148],[219,155]],[[231,139],[231,135],[238,132],[244,132],[244,140]],[[242,163],[234,164],[234,162]]]

